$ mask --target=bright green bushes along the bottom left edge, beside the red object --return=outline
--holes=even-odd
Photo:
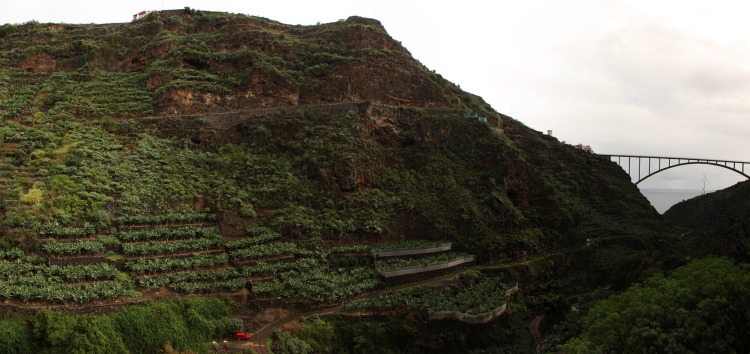
[[[40,310],[30,318],[0,320],[3,353],[206,352],[242,323],[229,318],[231,304],[220,299],[175,299],[129,306],[103,316]]]

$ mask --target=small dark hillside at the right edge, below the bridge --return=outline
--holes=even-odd
[[[750,182],[701,195],[675,204],[664,213],[683,229],[697,254],[750,259]]]

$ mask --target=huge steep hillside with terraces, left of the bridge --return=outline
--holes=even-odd
[[[259,329],[416,264],[378,249],[443,247],[419,267],[470,260],[446,283],[467,297],[519,283],[520,323],[630,285],[672,242],[615,163],[495,112],[372,19],[5,25],[0,117],[0,298],[16,310],[204,294]],[[401,312],[505,301],[441,299]]]

